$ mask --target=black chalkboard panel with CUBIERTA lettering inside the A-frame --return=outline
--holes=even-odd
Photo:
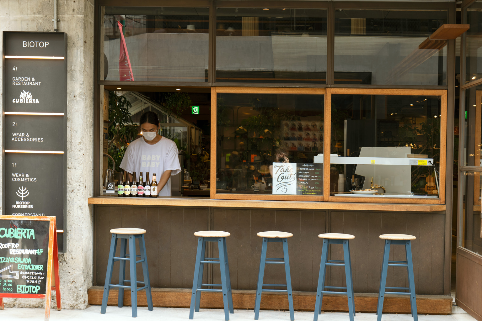
[[[46,294],[50,220],[0,218],[0,293]]]

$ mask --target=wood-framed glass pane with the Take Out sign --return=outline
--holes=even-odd
[[[216,193],[322,195],[324,95],[217,93]]]

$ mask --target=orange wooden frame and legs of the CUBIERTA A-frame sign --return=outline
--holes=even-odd
[[[0,215],[0,219],[11,220],[31,220],[31,221],[50,221],[49,224],[49,252],[47,257],[47,285],[46,289],[55,291],[57,296],[57,310],[62,309],[60,301],[60,278],[59,278],[59,255],[57,246],[57,223],[54,216],[17,216],[17,215]],[[54,273],[52,273],[54,268]],[[52,276],[54,276],[55,283],[52,283]],[[50,319],[50,294],[51,291],[46,290],[45,294],[20,294],[20,293],[0,293],[0,310],[3,310],[4,297],[29,297],[29,298],[45,298],[45,321]]]

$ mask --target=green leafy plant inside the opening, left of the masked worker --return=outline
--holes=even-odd
[[[109,126],[107,133],[107,153],[116,162],[114,172],[120,171],[119,165],[124,157],[125,150],[137,136],[137,126],[132,124],[129,108],[131,103],[114,91],[109,91]],[[110,163],[109,159],[109,163]]]

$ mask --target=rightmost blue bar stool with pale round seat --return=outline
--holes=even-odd
[[[414,321],[418,320],[417,317],[417,302],[415,299],[415,281],[414,281],[414,265],[412,262],[412,246],[411,240],[415,240],[416,237],[407,234],[382,234],[379,236],[385,241],[385,250],[383,252],[383,264],[382,264],[382,276],[380,279],[380,290],[378,291],[378,303],[376,305],[377,321],[382,320],[383,311],[383,299],[386,294],[396,295],[410,295],[410,308],[412,310],[412,317]],[[390,245],[405,245],[405,254],[407,256],[406,261],[390,261],[388,257],[390,255]],[[387,283],[387,271],[388,267],[406,267],[408,271],[408,288],[385,286]],[[393,290],[408,290],[408,292],[386,292],[385,289]]]

